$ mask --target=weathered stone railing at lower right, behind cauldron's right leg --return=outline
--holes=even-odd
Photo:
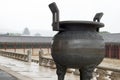
[[[79,70],[73,72],[75,75],[79,75]],[[104,67],[97,67],[93,73],[92,80],[120,80],[120,71],[114,71],[114,69],[107,69]]]

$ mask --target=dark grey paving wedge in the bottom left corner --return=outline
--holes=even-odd
[[[10,74],[0,70],[0,80],[18,80]]]

